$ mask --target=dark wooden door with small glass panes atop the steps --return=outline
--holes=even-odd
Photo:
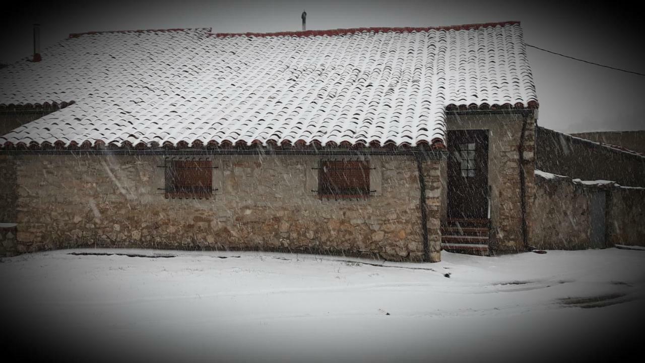
[[[449,130],[448,151],[448,218],[488,218],[488,130]]]

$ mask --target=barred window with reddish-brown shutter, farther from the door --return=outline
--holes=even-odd
[[[213,192],[211,160],[166,159],[166,198],[210,198]]]

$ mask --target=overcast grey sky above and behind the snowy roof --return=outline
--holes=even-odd
[[[213,28],[213,32],[363,26],[437,26],[519,20],[524,41],[570,56],[645,73],[645,15],[637,1],[110,1],[3,5],[0,62],[32,52],[32,23],[41,47],[69,33],[148,28]],[[564,132],[645,129],[645,77],[553,56],[529,48],[540,102],[539,125]]]

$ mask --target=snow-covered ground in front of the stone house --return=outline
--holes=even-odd
[[[147,257],[154,255],[163,257]],[[645,251],[442,258],[380,265],[115,249],[5,258],[3,353],[88,362],[523,363],[641,350]]]

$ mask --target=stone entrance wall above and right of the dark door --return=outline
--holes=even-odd
[[[448,129],[488,130],[488,183],[491,188],[489,246],[496,253],[524,249],[522,238],[519,147],[521,114],[449,114]],[[529,116],[524,132],[524,173],[527,223],[531,222],[531,196],[535,193],[535,118]],[[531,244],[531,227],[527,238]]]

